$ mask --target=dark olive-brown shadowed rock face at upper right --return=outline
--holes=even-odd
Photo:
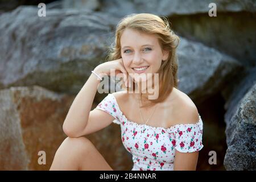
[[[245,67],[256,66],[255,12],[225,13],[218,11],[217,6],[216,17],[204,13],[170,16],[169,19],[180,36],[216,48],[236,58]]]

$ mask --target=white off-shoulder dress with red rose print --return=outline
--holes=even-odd
[[[111,114],[114,123],[121,126],[123,146],[133,156],[131,171],[172,171],[174,170],[175,149],[179,152],[201,150],[203,121],[195,124],[178,124],[166,129],[129,121],[119,109],[113,94],[108,94],[97,105]]]

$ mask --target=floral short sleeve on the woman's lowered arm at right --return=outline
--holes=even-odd
[[[195,124],[177,125],[175,130],[175,149],[179,152],[200,151],[203,146],[203,121]]]

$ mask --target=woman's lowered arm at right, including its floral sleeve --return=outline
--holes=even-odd
[[[179,115],[179,131],[176,132],[174,171],[195,171],[201,143],[203,125],[199,125],[199,113],[195,105],[184,106]]]

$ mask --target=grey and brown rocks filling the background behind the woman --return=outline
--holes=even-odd
[[[40,2],[46,17],[38,16]],[[179,89],[204,121],[197,170],[256,169],[256,1],[0,0],[0,170],[49,169],[73,99],[131,13],[166,16],[181,38]],[[105,96],[97,94],[93,108]],[[119,125],[87,137],[113,169],[131,169]]]

